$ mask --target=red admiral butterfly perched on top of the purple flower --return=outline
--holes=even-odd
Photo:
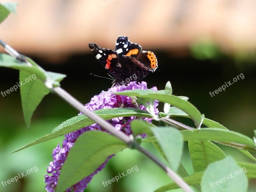
[[[153,52],[141,51],[141,46],[130,42],[126,36],[117,38],[115,51],[93,43],[89,43],[89,47],[96,59],[115,77],[115,84],[139,81],[158,67]]]

